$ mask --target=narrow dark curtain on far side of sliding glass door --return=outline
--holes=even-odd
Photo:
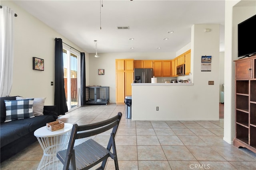
[[[81,106],[84,106],[86,103],[86,97],[85,97],[85,54],[81,53],[81,92],[80,92],[80,98],[81,98]]]

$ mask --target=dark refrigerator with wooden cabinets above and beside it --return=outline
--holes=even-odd
[[[151,78],[154,76],[153,68],[135,68],[134,78],[136,83],[151,83]]]

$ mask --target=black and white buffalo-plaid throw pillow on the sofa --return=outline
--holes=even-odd
[[[6,107],[5,122],[34,117],[34,99],[4,100]]]

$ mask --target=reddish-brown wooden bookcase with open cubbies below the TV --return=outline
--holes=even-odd
[[[236,60],[235,147],[256,153],[256,57]]]

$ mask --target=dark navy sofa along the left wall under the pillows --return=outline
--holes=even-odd
[[[6,119],[4,100],[16,100],[16,96],[0,98],[1,162],[37,141],[34,131],[58,118],[56,106],[44,106],[44,115],[4,122]]]

